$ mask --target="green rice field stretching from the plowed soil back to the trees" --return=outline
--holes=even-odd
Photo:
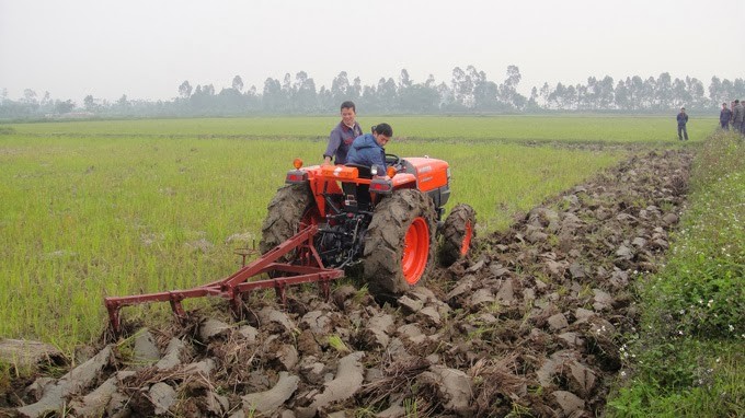
[[[447,160],[448,208],[479,234],[647,148],[662,117],[359,117],[393,126],[389,153]],[[193,287],[239,267],[291,161],[321,162],[336,118],[145,119],[0,126],[0,337],[62,350],[98,338],[106,295]],[[188,309],[188,305],[186,306]],[[146,315],[148,309],[127,316]]]

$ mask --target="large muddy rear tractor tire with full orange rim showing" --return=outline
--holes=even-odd
[[[378,299],[398,297],[426,277],[436,255],[435,207],[419,190],[397,190],[379,202],[365,236],[364,276]]]

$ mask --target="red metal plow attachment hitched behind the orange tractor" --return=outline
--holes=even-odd
[[[323,267],[321,258],[313,246],[313,236],[317,233],[318,227],[310,225],[253,260],[251,264],[243,266],[231,276],[208,285],[186,290],[105,298],[104,303],[108,311],[112,330],[116,335],[121,332],[122,324],[119,311],[122,306],[140,303],[170,302],[171,310],[173,310],[176,317],[184,320],[186,313],[181,301],[190,298],[219,297],[227,299],[230,302],[230,309],[236,317],[241,317],[243,294],[250,293],[253,290],[274,289],[277,293],[277,298],[284,304],[286,301],[285,288],[287,286],[318,282],[323,295],[328,298],[329,282],[342,278],[344,271]],[[298,257],[293,264],[278,263],[279,258],[295,249],[298,251]],[[264,272],[283,272],[288,274],[288,276],[267,280],[249,281],[249,279]]]

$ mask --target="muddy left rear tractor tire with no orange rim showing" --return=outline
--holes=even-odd
[[[266,254],[270,249],[289,240],[300,232],[300,227],[317,222],[318,208],[306,184],[290,184],[277,190],[266,210],[266,218],[261,227],[262,239],[259,249]],[[296,254],[290,252],[282,260],[290,263]]]

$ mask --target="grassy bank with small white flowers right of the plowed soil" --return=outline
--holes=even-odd
[[[641,329],[614,417],[734,417],[745,406],[745,143],[718,132],[694,166],[668,263],[640,279]]]

